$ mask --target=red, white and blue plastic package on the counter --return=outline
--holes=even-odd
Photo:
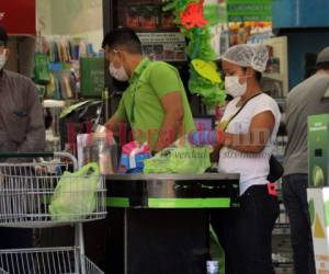
[[[131,141],[123,146],[120,161],[120,173],[141,173],[145,160],[151,157],[147,144],[139,145],[138,141]]]

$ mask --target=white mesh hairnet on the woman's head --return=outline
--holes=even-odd
[[[251,67],[259,72],[266,69],[269,50],[263,45],[237,45],[230,47],[222,57],[223,60],[240,67]]]

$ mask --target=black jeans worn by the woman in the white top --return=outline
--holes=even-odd
[[[274,274],[272,230],[279,202],[265,185],[249,187],[240,207],[212,213],[212,225],[225,250],[226,274]]]

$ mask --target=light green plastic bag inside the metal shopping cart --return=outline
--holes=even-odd
[[[95,210],[97,190],[100,182],[99,165],[93,162],[79,171],[64,172],[49,205],[55,221],[75,221]]]

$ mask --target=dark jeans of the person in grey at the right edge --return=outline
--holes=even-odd
[[[307,174],[291,174],[283,178],[283,202],[290,216],[295,274],[316,273],[307,186]]]

